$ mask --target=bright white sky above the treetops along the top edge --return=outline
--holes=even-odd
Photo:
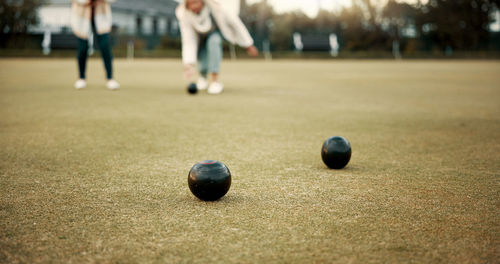
[[[260,2],[261,0],[247,0],[248,4]],[[318,13],[318,7],[327,10],[338,10],[344,6],[350,6],[351,0],[268,0],[278,13],[302,10],[308,16],[314,17]],[[417,0],[400,0],[398,2],[415,3]]]

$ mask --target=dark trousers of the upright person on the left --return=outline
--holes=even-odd
[[[101,51],[102,60],[104,61],[104,68],[106,68],[106,77],[108,80],[113,79],[113,53],[111,52],[111,43],[109,41],[109,33],[97,34],[94,21],[92,21],[92,31],[94,32],[94,40],[97,40],[97,45]],[[85,79],[85,72],[87,68],[89,42],[86,39],[78,38],[78,70],[80,79]]]

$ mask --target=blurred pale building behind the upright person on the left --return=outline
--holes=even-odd
[[[113,10],[113,32],[119,35],[177,35],[174,0],[117,0]],[[40,24],[31,32],[71,31],[71,1],[50,0],[39,10]]]

